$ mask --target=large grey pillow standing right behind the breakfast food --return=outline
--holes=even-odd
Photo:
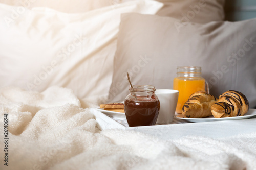
[[[123,14],[114,59],[110,102],[129,93],[126,72],[133,84],[172,89],[177,66],[201,66],[210,93],[244,93],[256,106],[256,19],[239,22],[186,23],[141,14]]]

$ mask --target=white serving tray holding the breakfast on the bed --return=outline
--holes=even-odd
[[[174,117],[172,124],[127,127],[113,118],[95,109],[97,127],[104,129],[124,129],[150,134],[161,139],[174,139],[187,135],[200,135],[211,138],[222,138],[238,134],[256,132],[256,116],[249,119],[222,120],[215,122],[191,123]],[[125,121],[124,121],[125,122]]]

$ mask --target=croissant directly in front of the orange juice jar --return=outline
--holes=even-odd
[[[217,98],[205,91],[198,91],[189,96],[183,105],[182,114],[187,118],[203,118],[211,116],[211,106],[217,102]]]

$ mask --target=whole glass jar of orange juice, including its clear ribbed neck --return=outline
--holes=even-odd
[[[173,89],[179,91],[176,112],[181,113],[183,105],[192,93],[205,90],[205,79],[201,77],[201,67],[177,67]]]

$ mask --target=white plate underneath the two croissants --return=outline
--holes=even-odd
[[[239,119],[246,119],[252,116],[256,116],[256,109],[249,109],[249,111],[243,116],[236,116],[236,117],[223,117],[223,118],[214,118],[214,116],[209,116],[205,118],[183,118],[177,117],[179,119],[187,120],[189,122],[211,122],[211,121],[220,121],[220,120],[239,120]]]

